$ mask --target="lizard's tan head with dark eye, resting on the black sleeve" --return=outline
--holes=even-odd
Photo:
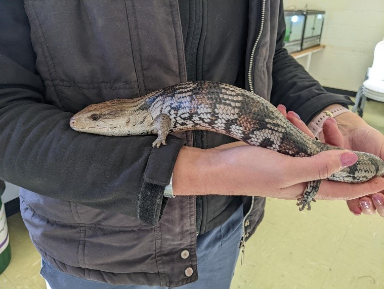
[[[91,104],[75,114],[69,122],[80,132],[109,136],[138,135],[148,133],[152,117],[139,109],[133,99],[114,99]]]

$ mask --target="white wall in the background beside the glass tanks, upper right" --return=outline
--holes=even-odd
[[[323,86],[356,91],[384,37],[384,0],[284,0],[284,8],[324,10],[321,43],[309,73]],[[306,57],[298,59],[306,63]]]

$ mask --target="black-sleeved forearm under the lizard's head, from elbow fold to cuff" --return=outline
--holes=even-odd
[[[159,182],[166,185],[164,175],[172,171],[183,145],[179,138],[169,136],[169,145],[157,149],[152,148],[152,135],[80,134],[69,127],[72,114],[31,100],[10,100],[12,104],[2,107],[6,95],[21,92],[0,89],[0,179],[41,195],[139,218],[140,203],[162,193]],[[152,191],[143,190],[145,183],[152,183]]]

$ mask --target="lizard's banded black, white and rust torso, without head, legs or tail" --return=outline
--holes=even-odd
[[[162,93],[162,97],[154,96],[161,103],[154,105],[152,114],[168,115],[173,124],[170,132],[216,131],[294,157],[320,152],[317,147],[308,147],[312,139],[302,131],[287,134],[290,122],[271,103],[249,91],[221,83],[192,82]]]

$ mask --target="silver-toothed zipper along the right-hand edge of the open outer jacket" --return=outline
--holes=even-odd
[[[253,83],[252,83],[253,60],[254,60],[254,53],[255,53],[255,51],[256,51],[256,47],[258,46],[258,43],[259,43],[260,38],[261,38],[262,33],[263,33],[264,20],[265,20],[265,4],[266,4],[266,0],[263,0],[263,2],[262,2],[262,15],[261,15],[260,30],[259,30],[258,38],[257,38],[256,41],[254,42],[254,45],[253,45],[253,48],[252,48],[252,52],[251,52],[251,54],[250,54],[250,60],[249,60],[249,68],[248,68],[248,84],[249,84],[249,90],[250,90],[251,92],[253,92],[253,93],[254,93]],[[250,203],[249,210],[248,210],[248,212],[245,214],[244,219],[243,219],[243,222],[242,222],[242,224],[241,224],[241,230],[242,230],[241,241],[240,241],[240,249],[241,249],[241,265],[244,263],[245,238],[248,237],[248,234],[245,234],[245,222],[247,221],[247,218],[248,218],[248,216],[249,216],[251,210],[253,209],[253,205],[254,205],[254,197],[252,197],[252,201],[251,201],[251,203]]]

